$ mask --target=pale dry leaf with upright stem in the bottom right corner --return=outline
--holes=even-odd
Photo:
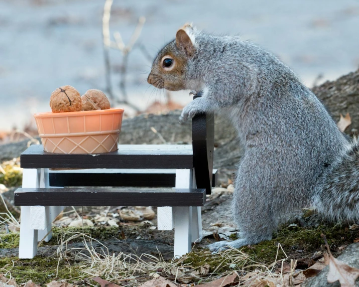
[[[341,262],[340,260],[334,258],[330,252],[325,235],[321,234],[321,237],[324,239],[325,246],[328,249],[328,253],[330,255],[327,281],[329,283],[333,283],[339,280],[341,287],[355,286],[355,280],[357,277],[359,277],[359,269],[350,267],[344,262]]]

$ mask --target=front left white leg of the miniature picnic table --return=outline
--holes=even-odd
[[[40,186],[40,169],[24,169],[23,188]],[[21,207],[19,258],[34,258],[37,253],[38,231],[31,228],[30,206]]]

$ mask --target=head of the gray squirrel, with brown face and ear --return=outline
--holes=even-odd
[[[195,30],[186,24],[177,31],[176,39],[158,53],[147,82],[156,88],[170,91],[188,88],[188,67],[194,54]]]

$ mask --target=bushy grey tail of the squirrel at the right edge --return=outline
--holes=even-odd
[[[359,139],[329,167],[318,187],[313,205],[331,221],[359,220]]]

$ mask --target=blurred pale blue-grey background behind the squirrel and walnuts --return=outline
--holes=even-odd
[[[127,116],[185,105],[188,91],[160,92],[146,78],[186,22],[253,40],[309,87],[359,65],[357,0],[0,0],[0,139],[35,132],[32,114],[50,111],[63,85],[103,90]]]

